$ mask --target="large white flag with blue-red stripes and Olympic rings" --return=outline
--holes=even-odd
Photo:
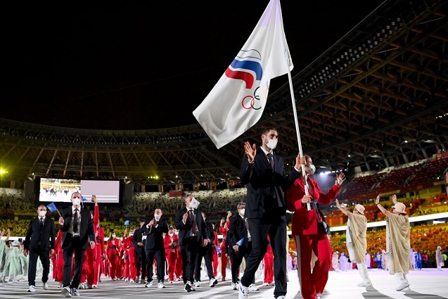
[[[271,0],[238,55],[210,94],[193,111],[201,127],[221,148],[262,116],[269,81],[293,69],[281,17],[280,0]]]

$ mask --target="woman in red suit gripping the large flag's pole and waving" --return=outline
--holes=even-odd
[[[305,165],[308,195],[305,194],[305,180],[303,176],[297,178],[286,191],[288,210],[293,215],[293,236],[297,245],[297,271],[304,299],[315,299],[316,294],[324,292],[331,267],[331,244],[321,223],[324,217],[319,211],[319,204],[328,205],[340,191],[340,185],[345,180],[344,174],[336,174],[335,185],[324,194],[317,182],[309,177],[314,174],[316,167],[309,155],[300,158],[300,164]],[[307,209],[307,204],[310,210]],[[311,270],[312,253],[318,260]]]

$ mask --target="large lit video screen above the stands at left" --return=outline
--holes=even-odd
[[[70,203],[73,192],[81,193],[83,201],[92,195],[99,203],[120,203],[120,181],[40,178],[39,201]]]

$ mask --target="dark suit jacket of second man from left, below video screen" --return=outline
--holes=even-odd
[[[68,229],[70,229],[70,225],[72,224],[72,206],[63,210],[62,216],[64,217],[64,225],[60,227],[60,230],[63,231],[62,237],[62,248],[67,248],[70,246],[71,242],[65,243],[67,236],[71,236],[68,233]],[[95,241],[95,233],[94,233],[94,223],[91,220],[91,214],[89,208],[81,208],[81,226],[79,229],[79,244],[75,244],[76,247],[81,247],[82,249],[87,249],[89,246],[89,240]]]

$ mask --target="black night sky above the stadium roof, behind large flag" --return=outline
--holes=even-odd
[[[4,8],[0,117],[85,129],[196,124],[193,110],[248,39],[268,2]],[[281,1],[292,75],[382,2]],[[272,80],[272,90],[286,82],[286,76]]]

